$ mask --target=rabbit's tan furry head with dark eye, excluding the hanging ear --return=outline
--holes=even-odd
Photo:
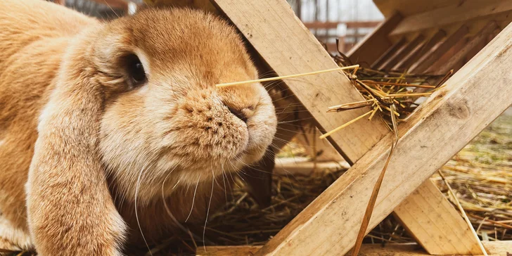
[[[94,84],[66,90],[73,101],[101,101],[88,129],[96,129],[98,158],[123,196],[133,200],[138,190],[148,202],[163,181],[171,191],[263,157],[276,132],[267,91],[260,83],[215,87],[257,78],[233,27],[200,11],[149,9],[83,37],[91,34],[72,44],[56,90],[70,75]],[[56,98],[47,108],[63,104]]]

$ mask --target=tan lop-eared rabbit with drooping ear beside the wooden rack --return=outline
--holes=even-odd
[[[0,1],[0,248],[122,255],[205,222],[276,133],[262,84],[215,86],[257,76],[202,11]]]

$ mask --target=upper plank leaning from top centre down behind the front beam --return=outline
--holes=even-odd
[[[242,34],[278,75],[335,67],[331,57],[300,23],[300,20],[295,18],[286,1],[215,0],[215,3],[237,25]],[[397,19],[392,18],[385,24],[390,26],[397,23]],[[287,29],[283,30],[283,27]],[[377,30],[376,33],[380,34],[383,31],[385,31],[384,28]],[[367,42],[371,41],[378,42],[378,37],[370,37],[367,40]],[[362,46],[369,47],[368,49],[372,47],[371,44],[362,44]],[[367,57],[370,60],[370,57]],[[285,82],[305,105],[305,108],[316,117],[316,121],[321,124],[321,127],[324,127],[324,130],[333,129],[333,127],[344,124],[347,120],[352,120],[354,116],[361,114],[359,110],[337,113],[335,117],[333,114],[325,113],[327,106],[356,101],[361,97],[343,74],[331,73],[316,77],[290,79]],[[314,87],[314,84],[317,86]],[[336,91],[337,94],[332,94],[333,91]],[[329,139],[338,151],[344,153],[345,160],[355,162],[369,151],[386,132],[388,130],[381,122],[360,120]],[[444,200],[441,194],[438,194],[437,197]],[[430,207],[429,205],[424,206]],[[442,215],[442,213],[428,208],[424,212]],[[416,222],[416,220],[411,221]],[[430,235],[442,236],[443,234],[431,233]]]

